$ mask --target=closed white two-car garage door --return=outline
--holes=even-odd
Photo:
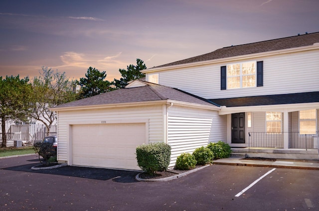
[[[135,153],[145,130],[145,123],[73,125],[72,165],[140,170]]]

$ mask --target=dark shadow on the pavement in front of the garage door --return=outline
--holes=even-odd
[[[35,160],[36,159],[28,160],[28,161],[33,162]],[[137,171],[87,168],[87,167],[77,167],[77,166],[64,166],[64,167],[60,167],[56,169],[45,169],[45,170],[31,170],[31,167],[36,165],[39,165],[39,163],[12,166],[7,168],[2,168],[2,170],[61,175],[61,176],[68,176],[68,177],[86,178],[86,179],[92,179],[92,180],[112,180],[114,182],[120,182],[120,183],[139,182],[135,179],[136,175],[139,173]]]

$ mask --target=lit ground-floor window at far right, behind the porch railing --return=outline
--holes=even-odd
[[[300,134],[316,134],[316,109],[299,111]]]

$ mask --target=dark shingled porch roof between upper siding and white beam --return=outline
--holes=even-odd
[[[319,92],[211,99],[210,101],[226,107],[319,103]]]

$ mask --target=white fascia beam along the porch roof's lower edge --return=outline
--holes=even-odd
[[[219,115],[239,113],[239,112],[253,112],[253,111],[299,111],[308,109],[318,109],[319,103],[304,103],[304,104],[282,104],[282,105],[265,105],[265,106],[240,106],[240,107],[226,107],[222,106],[218,111]]]

